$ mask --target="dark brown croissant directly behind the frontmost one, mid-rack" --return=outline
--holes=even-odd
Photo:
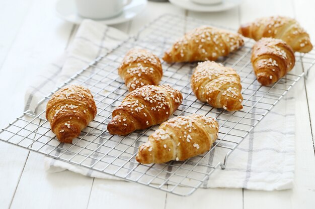
[[[127,135],[161,124],[177,110],[182,100],[181,92],[169,85],[143,86],[130,92],[113,111],[107,130],[112,135]]]

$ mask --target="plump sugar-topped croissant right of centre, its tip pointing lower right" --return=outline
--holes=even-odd
[[[198,63],[191,88],[196,97],[215,108],[235,111],[243,108],[240,76],[232,68],[213,61]]]

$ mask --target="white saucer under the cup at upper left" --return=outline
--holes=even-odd
[[[124,23],[142,12],[145,6],[146,0],[132,0],[119,16],[109,19],[94,19],[94,21],[102,22],[106,25]],[[74,0],[59,0],[56,4],[56,12],[60,18],[71,23],[80,24],[84,20],[83,17],[76,13]]]

